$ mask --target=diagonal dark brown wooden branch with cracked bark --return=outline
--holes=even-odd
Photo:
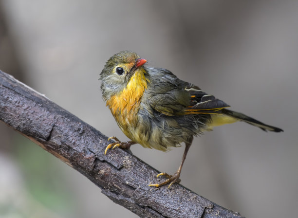
[[[100,118],[98,118],[100,119]],[[149,187],[159,173],[130,151],[11,75],[0,71],[0,120],[75,168],[102,193],[140,217],[243,218],[188,190]]]

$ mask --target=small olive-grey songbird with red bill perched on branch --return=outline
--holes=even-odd
[[[104,101],[123,133],[131,141],[114,142],[107,146],[143,147],[167,151],[185,143],[182,162],[174,175],[160,173],[167,180],[150,186],[159,187],[180,182],[180,173],[193,136],[213,127],[243,121],[264,131],[282,129],[261,123],[242,113],[229,109],[226,103],[207,94],[192,83],[177,78],[162,68],[144,66],[147,60],[136,53],[123,51],[113,55],[100,73]],[[168,186],[168,187],[169,187]]]

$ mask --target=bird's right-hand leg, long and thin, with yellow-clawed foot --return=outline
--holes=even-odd
[[[179,179],[180,173],[181,173],[181,169],[182,169],[183,163],[184,163],[184,161],[186,159],[187,151],[188,151],[188,149],[189,149],[189,147],[191,145],[191,142],[192,142],[192,139],[188,143],[185,144],[185,150],[184,150],[184,153],[183,153],[182,161],[181,161],[181,164],[180,164],[177,172],[174,175],[172,175],[172,176],[171,175],[168,175],[168,173],[160,173],[156,177],[165,176],[168,179],[165,182],[162,182],[162,183],[159,183],[159,184],[149,184],[149,186],[160,187],[162,185],[166,185],[166,184],[170,183],[168,185],[168,188],[169,188],[172,184],[174,184],[176,182],[179,183],[181,181]]]

